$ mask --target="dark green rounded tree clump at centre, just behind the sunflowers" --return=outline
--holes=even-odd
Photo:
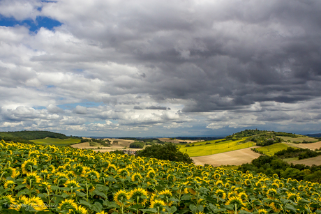
[[[179,151],[179,148],[172,143],[147,146],[145,149],[137,151],[136,155],[140,157],[157,158],[159,160],[193,163],[193,160],[187,153],[182,153]]]

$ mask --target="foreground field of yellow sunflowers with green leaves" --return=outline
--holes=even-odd
[[[321,213],[318,183],[0,142],[0,213]]]

